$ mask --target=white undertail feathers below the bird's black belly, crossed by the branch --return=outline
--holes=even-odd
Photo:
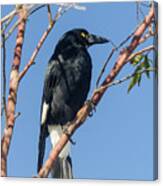
[[[58,143],[61,135],[63,134],[61,125],[49,125],[48,131],[50,133],[51,143],[54,148]],[[59,157],[66,158],[69,155],[69,153],[70,153],[70,142],[68,141],[67,144],[62,149],[62,151],[60,152]]]

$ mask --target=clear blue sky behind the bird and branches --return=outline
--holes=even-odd
[[[112,39],[119,44],[137,25],[135,3],[83,4],[86,11],[70,10],[59,19],[39,55],[19,87],[14,135],[8,157],[8,176],[36,175],[39,137],[39,115],[45,68],[62,34],[72,28],[86,28],[89,32]],[[2,16],[12,10],[2,7]],[[53,12],[56,7],[53,6]],[[143,11],[146,13],[147,8]],[[47,9],[43,8],[27,22],[21,69],[28,62],[42,33],[47,28]],[[13,59],[14,35],[6,43],[7,77]],[[146,45],[151,44],[149,40]],[[146,45],[142,45],[146,46]],[[91,90],[111,45],[96,45],[89,49],[93,62]],[[106,70],[113,66],[115,55]],[[117,79],[133,72],[126,66]],[[152,76],[151,76],[152,77]],[[8,79],[7,79],[8,82]],[[128,83],[110,88],[92,118],[76,131],[72,147],[75,178],[88,179],[153,179],[153,80],[145,76],[140,87],[127,94]],[[3,120],[2,120],[3,123]],[[2,124],[3,131],[4,124]],[[50,150],[47,140],[46,157]]]

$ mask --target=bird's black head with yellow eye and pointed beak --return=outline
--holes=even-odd
[[[87,30],[80,28],[66,32],[62,39],[72,41],[73,44],[82,47],[90,47],[94,44],[102,44],[109,42],[109,40],[106,38],[90,34]]]

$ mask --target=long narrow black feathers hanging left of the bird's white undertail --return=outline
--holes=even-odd
[[[47,133],[48,133],[47,126],[45,124],[41,125],[40,136],[39,136],[39,146],[38,146],[37,172],[40,171],[42,164],[43,164]]]

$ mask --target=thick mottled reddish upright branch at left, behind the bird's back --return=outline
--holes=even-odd
[[[25,7],[19,10],[19,19],[22,20],[18,25],[16,46],[14,50],[14,59],[10,72],[9,96],[7,104],[7,123],[4,129],[4,135],[1,142],[1,176],[7,176],[7,155],[10,148],[10,142],[15,123],[15,107],[17,101],[18,75],[21,63],[22,46],[24,40],[24,31],[26,25],[27,12]]]

